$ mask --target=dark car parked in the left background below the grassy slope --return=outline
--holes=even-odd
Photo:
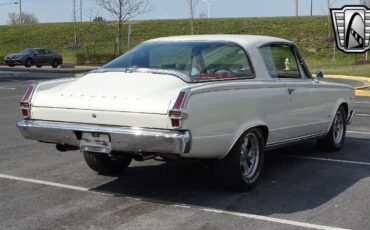
[[[45,65],[51,65],[57,68],[63,64],[63,58],[60,54],[49,49],[28,48],[16,54],[9,54],[4,58],[4,63],[10,67],[24,65],[31,67],[33,65],[41,68]]]

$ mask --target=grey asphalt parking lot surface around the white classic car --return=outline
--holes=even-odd
[[[1,229],[369,229],[370,98],[356,99],[340,152],[273,151],[258,186],[235,193],[202,162],[134,162],[109,177],[78,151],[24,140],[18,103],[39,80],[0,77]]]

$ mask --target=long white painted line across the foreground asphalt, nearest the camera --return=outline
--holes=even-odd
[[[28,183],[33,183],[33,184],[47,185],[47,186],[69,189],[69,190],[80,191],[80,192],[91,192],[91,193],[102,194],[102,195],[115,195],[115,196],[125,197],[125,198],[128,198],[128,199],[139,200],[139,201],[155,202],[154,200],[142,199],[142,198],[137,198],[137,197],[128,197],[128,196],[125,196],[125,195],[119,194],[119,193],[117,194],[117,193],[100,191],[100,190],[97,190],[97,189],[90,189],[90,188],[86,188],[86,187],[66,185],[66,184],[61,184],[61,183],[54,183],[54,182],[43,181],[43,180],[35,180],[35,179],[24,178],[24,177],[16,177],[16,176],[5,175],[5,174],[0,174],[0,178],[15,180],[15,181],[28,182]],[[161,202],[161,203],[163,203],[163,202]],[[268,216],[261,216],[261,215],[247,214],[247,213],[241,213],[241,212],[233,212],[233,211],[226,211],[226,210],[221,210],[221,209],[204,208],[204,207],[185,205],[185,204],[171,204],[171,206],[179,207],[179,208],[195,209],[195,210],[199,210],[199,211],[203,211],[203,212],[209,212],[209,213],[218,213],[218,214],[224,214],[224,215],[238,216],[238,217],[244,217],[244,218],[248,218],[248,219],[261,220],[261,221],[266,221],[266,222],[292,225],[292,226],[296,226],[296,227],[304,227],[304,228],[310,228],[310,229],[344,230],[344,228],[336,228],[336,227],[330,227],[330,226],[325,226],[325,225],[310,224],[310,223],[305,223],[305,222],[291,221],[291,220],[268,217]]]

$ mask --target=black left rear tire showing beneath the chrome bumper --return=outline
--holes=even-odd
[[[95,172],[110,175],[119,174],[127,169],[132,161],[131,155],[120,155],[117,160],[111,159],[108,155],[83,152],[85,162]]]

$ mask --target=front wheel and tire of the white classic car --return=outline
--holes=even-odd
[[[347,130],[346,117],[346,111],[343,106],[339,107],[328,134],[323,139],[317,141],[320,149],[333,152],[339,151],[342,148]]]

